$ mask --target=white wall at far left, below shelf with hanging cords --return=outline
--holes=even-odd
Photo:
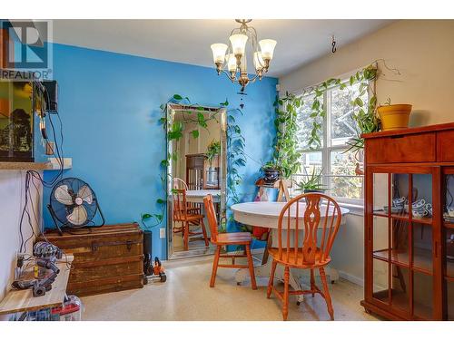
[[[35,214],[41,223],[42,189],[36,183],[38,191],[32,185],[31,193],[34,199]],[[0,170],[0,300],[15,278],[15,258],[20,247],[19,220],[25,201],[25,171]],[[40,226],[35,223],[30,209],[35,233]],[[28,223],[24,223],[24,237],[29,238],[32,231]],[[27,252],[32,252],[33,240],[30,241]]]

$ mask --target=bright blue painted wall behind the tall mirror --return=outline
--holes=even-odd
[[[158,123],[159,106],[180,93],[192,102],[240,104],[238,85],[212,68],[170,63],[132,55],[54,44],[54,80],[59,84],[59,112],[64,125],[64,156],[78,177],[95,190],[107,224],[139,221],[156,210],[162,197],[159,162],[165,157],[165,134]],[[207,49],[207,53],[210,53]],[[248,86],[244,116],[237,121],[246,139],[246,153],[258,161],[271,158],[277,79]],[[252,200],[260,164],[248,159],[242,169],[242,200]],[[49,179],[54,171],[46,171]],[[44,190],[47,204],[50,190]],[[53,222],[44,209],[44,226]],[[163,224],[163,227],[165,224]],[[153,256],[164,257],[165,239],[154,229]]]

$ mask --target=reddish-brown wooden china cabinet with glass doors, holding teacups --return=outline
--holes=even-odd
[[[454,320],[454,123],[363,137],[361,305],[393,320]]]

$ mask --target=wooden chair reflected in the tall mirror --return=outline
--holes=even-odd
[[[206,234],[205,224],[203,223],[203,215],[198,213],[199,210],[192,210],[188,207],[186,201],[186,189],[173,189],[173,222],[182,223],[183,232],[183,248],[188,250],[189,237],[202,235],[205,241],[205,247],[208,247],[208,237]],[[191,226],[200,226],[201,232],[191,231]],[[175,229],[173,229],[175,232]]]

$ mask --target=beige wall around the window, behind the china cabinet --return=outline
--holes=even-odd
[[[390,97],[392,103],[411,103],[411,126],[454,121],[453,37],[454,20],[401,20],[282,76],[281,91],[298,91],[383,58],[401,75],[383,70],[378,102]],[[333,267],[357,283],[364,277],[363,247],[363,217],[350,215],[331,256]]]

